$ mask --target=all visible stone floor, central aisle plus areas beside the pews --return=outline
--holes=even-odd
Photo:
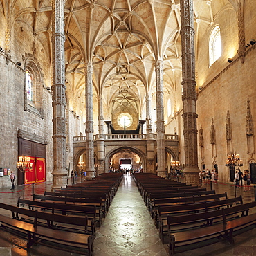
[[[71,183],[71,181],[68,181]],[[15,191],[10,188],[0,189],[0,202],[17,204],[19,196],[31,199],[33,190],[35,194],[44,194],[44,191],[51,190],[52,183],[27,185],[25,192],[23,186],[17,186]],[[204,184],[210,190],[209,184]],[[243,196],[244,203],[255,200],[255,192],[252,186],[250,191],[244,192],[242,188],[234,189],[232,184],[217,183],[212,184],[212,188],[220,192],[227,192],[228,197],[235,194]],[[256,212],[256,210],[255,210]],[[7,214],[0,209],[0,214]],[[235,245],[220,242],[212,246],[206,246],[186,253],[181,256],[214,256],[214,255],[256,255],[256,229],[250,230],[235,237]],[[95,256],[160,256],[167,255],[167,244],[162,244],[158,238],[158,231],[154,226],[143,199],[138,193],[138,189],[131,176],[124,176],[120,183],[120,188],[111,203],[107,217],[103,220],[101,228],[96,232],[96,239],[93,244]],[[29,251],[26,250],[26,241],[19,239],[8,232],[0,232],[0,256],[69,256],[75,255],[61,250],[46,248],[36,245]],[[77,255],[75,255],[77,256]]]

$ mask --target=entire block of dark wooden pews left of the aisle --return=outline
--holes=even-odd
[[[51,194],[19,198],[17,206],[0,203],[1,228],[27,241],[27,248],[43,244],[58,250],[93,255],[95,227],[107,214],[122,174],[102,174],[92,181]],[[23,206],[23,207],[21,207]],[[7,217],[11,212],[12,217]]]

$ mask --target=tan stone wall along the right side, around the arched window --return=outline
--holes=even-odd
[[[249,2],[249,1],[248,1]],[[255,32],[255,5],[245,3],[244,27],[245,42],[248,44],[251,38],[256,38]],[[250,4],[250,5],[249,5]],[[229,15],[228,15],[228,12]],[[241,170],[249,169],[249,162],[255,161],[256,155],[248,154],[246,136],[247,101],[250,100],[250,109],[254,123],[253,143],[255,143],[256,122],[256,73],[254,72],[256,45],[246,48],[244,63],[239,60],[238,50],[238,26],[237,14],[227,10],[226,15],[219,15],[216,24],[221,28],[222,54],[210,68],[208,68],[208,38],[210,29],[201,39],[197,63],[198,84],[203,89],[199,91],[197,101],[198,129],[202,127],[203,147],[199,147],[199,168],[205,164],[205,168],[212,169],[213,164],[218,165],[219,180],[230,181],[228,167],[225,160],[228,151],[240,154],[244,161]],[[228,63],[228,57],[233,59]],[[230,113],[231,140],[228,147],[226,137],[226,117]],[[216,132],[216,143],[211,144],[210,131],[212,122]],[[216,147],[216,149],[214,149]],[[202,150],[201,150],[202,149]]]

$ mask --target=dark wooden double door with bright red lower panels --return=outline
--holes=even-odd
[[[32,168],[18,171],[18,185],[46,181],[46,145],[19,138],[19,156],[30,156]]]

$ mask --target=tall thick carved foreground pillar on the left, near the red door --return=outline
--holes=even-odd
[[[66,86],[64,62],[64,0],[53,0],[53,187],[66,186]]]

